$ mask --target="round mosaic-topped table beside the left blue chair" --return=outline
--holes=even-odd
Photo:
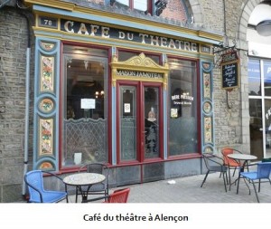
[[[101,183],[106,179],[102,174],[97,173],[76,173],[64,177],[65,189],[67,192],[67,186],[76,186],[82,194],[82,203],[88,202],[88,192],[90,186]],[[88,186],[87,190],[83,190],[82,186]]]

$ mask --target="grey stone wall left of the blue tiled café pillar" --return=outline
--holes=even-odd
[[[14,7],[0,9],[0,22],[0,202],[14,202],[22,197],[28,32]]]

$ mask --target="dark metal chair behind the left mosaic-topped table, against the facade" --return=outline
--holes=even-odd
[[[108,196],[108,182],[109,182],[109,168],[102,163],[90,163],[87,165],[84,165],[79,168],[79,172],[82,170],[87,170],[87,173],[98,173],[98,174],[103,174],[106,179],[105,181],[92,185],[92,186],[81,186],[81,190],[79,187],[76,188],[76,197],[75,197],[75,202],[78,200],[78,195],[81,195],[82,192],[87,193],[88,195],[104,195]],[[82,192],[81,192],[82,191]]]

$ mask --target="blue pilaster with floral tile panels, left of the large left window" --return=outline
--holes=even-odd
[[[61,42],[35,39],[33,169],[59,169],[59,100]]]

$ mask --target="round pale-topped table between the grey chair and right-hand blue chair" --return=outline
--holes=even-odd
[[[227,157],[236,160],[241,165],[241,167],[239,167],[238,178],[234,182],[232,182],[231,184],[229,184],[229,190],[230,190],[230,186],[232,184],[236,184],[237,181],[238,181],[238,187],[239,187],[239,181],[240,181],[240,178],[241,178],[240,177],[240,173],[244,172],[244,168],[246,166],[248,166],[248,161],[249,160],[256,160],[257,157],[254,156],[254,155],[250,155],[250,154],[229,154],[229,155],[227,155]],[[246,186],[248,186],[246,180],[245,180],[245,184],[246,184]],[[237,188],[237,194],[238,194],[238,189],[239,188]],[[249,186],[248,186],[248,190],[249,190],[249,194],[250,194]]]

